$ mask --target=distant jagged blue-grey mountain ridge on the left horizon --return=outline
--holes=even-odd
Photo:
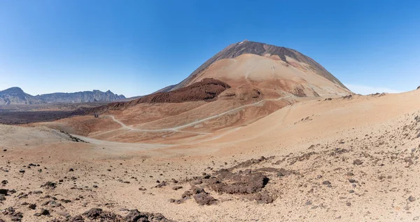
[[[43,104],[43,103],[78,103],[78,102],[113,102],[125,99],[110,90],[83,92],[55,92],[43,95],[29,95],[21,88],[13,87],[0,91],[0,104]]]

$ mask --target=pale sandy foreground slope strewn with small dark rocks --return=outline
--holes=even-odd
[[[17,193],[6,196],[0,209],[15,207],[23,213],[23,221],[50,221],[50,217],[32,216],[41,208],[58,218],[92,207],[123,215],[126,211],[121,208],[137,208],[176,221],[416,221],[420,216],[420,118],[416,116],[420,116],[420,90],[300,102],[223,137],[193,145],[146,147],[94,140],[80,144],[56,137],[51,139],[54,145],[48,140],[43,145],[35,143],[38,139],[10,134],[0,140],[3,148],[13,146],[1,153],[0,169],[9,172],[0,171],[0,178],[8,180],[4,188]],[[202,176],[202,172],[214,174],[214,170],[261,155],[274,158],[232,172],[261,167],[295,170],[295,174],[280,176],[263,172],[269,181],[261,192],[274,202],[258,204],[244,195],[219,195],[205,185],[205,179],[197,186],[218,199],[217,204],[200,206],[194,199],[169,202],[190,189],[183,179]],[[353,164],[355,160],[361,164]],[[23,167],[29,163],[41,166]],[[24,174],[18,172],[22,168]],[[59,179],[63,181],[55,190],[40,188],[46,181]],[[168,186],[153,188],[156,180],[167,181]],[[173,190],[174,186],[183,188]],[[34,190],[43,193],[30,193]],[[19,198],[19,193],[28,195]],[[51,200],[45,195],[56,197],[62,206],[41,206]],[[38,207],[31,210],[24,202]],[[2,214],[0,218],[10,219]]]

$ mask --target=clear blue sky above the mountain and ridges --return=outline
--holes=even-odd
[[[0,90],[145,95],[244,39],[299,50],[354,92],[420,85],[420,1],[0,0]]]

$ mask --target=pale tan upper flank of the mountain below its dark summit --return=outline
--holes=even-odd
[[[293,92],[293,88],[301,85],[306,95],[312,91],[319,95],[334,94],[347,95],[351,92],[344,90],[335,83],[316,74],[309,65],[286,57],[290,64],[279,60],[278,56],[263,57],[260,55],[244,54],[234,59],[218,60],[209,68],[196,76],[192,83],[203,78],[216,78],[232,85],[248,83],[258,85],[261,90],[271,89],[273,86],[286,92]]]

